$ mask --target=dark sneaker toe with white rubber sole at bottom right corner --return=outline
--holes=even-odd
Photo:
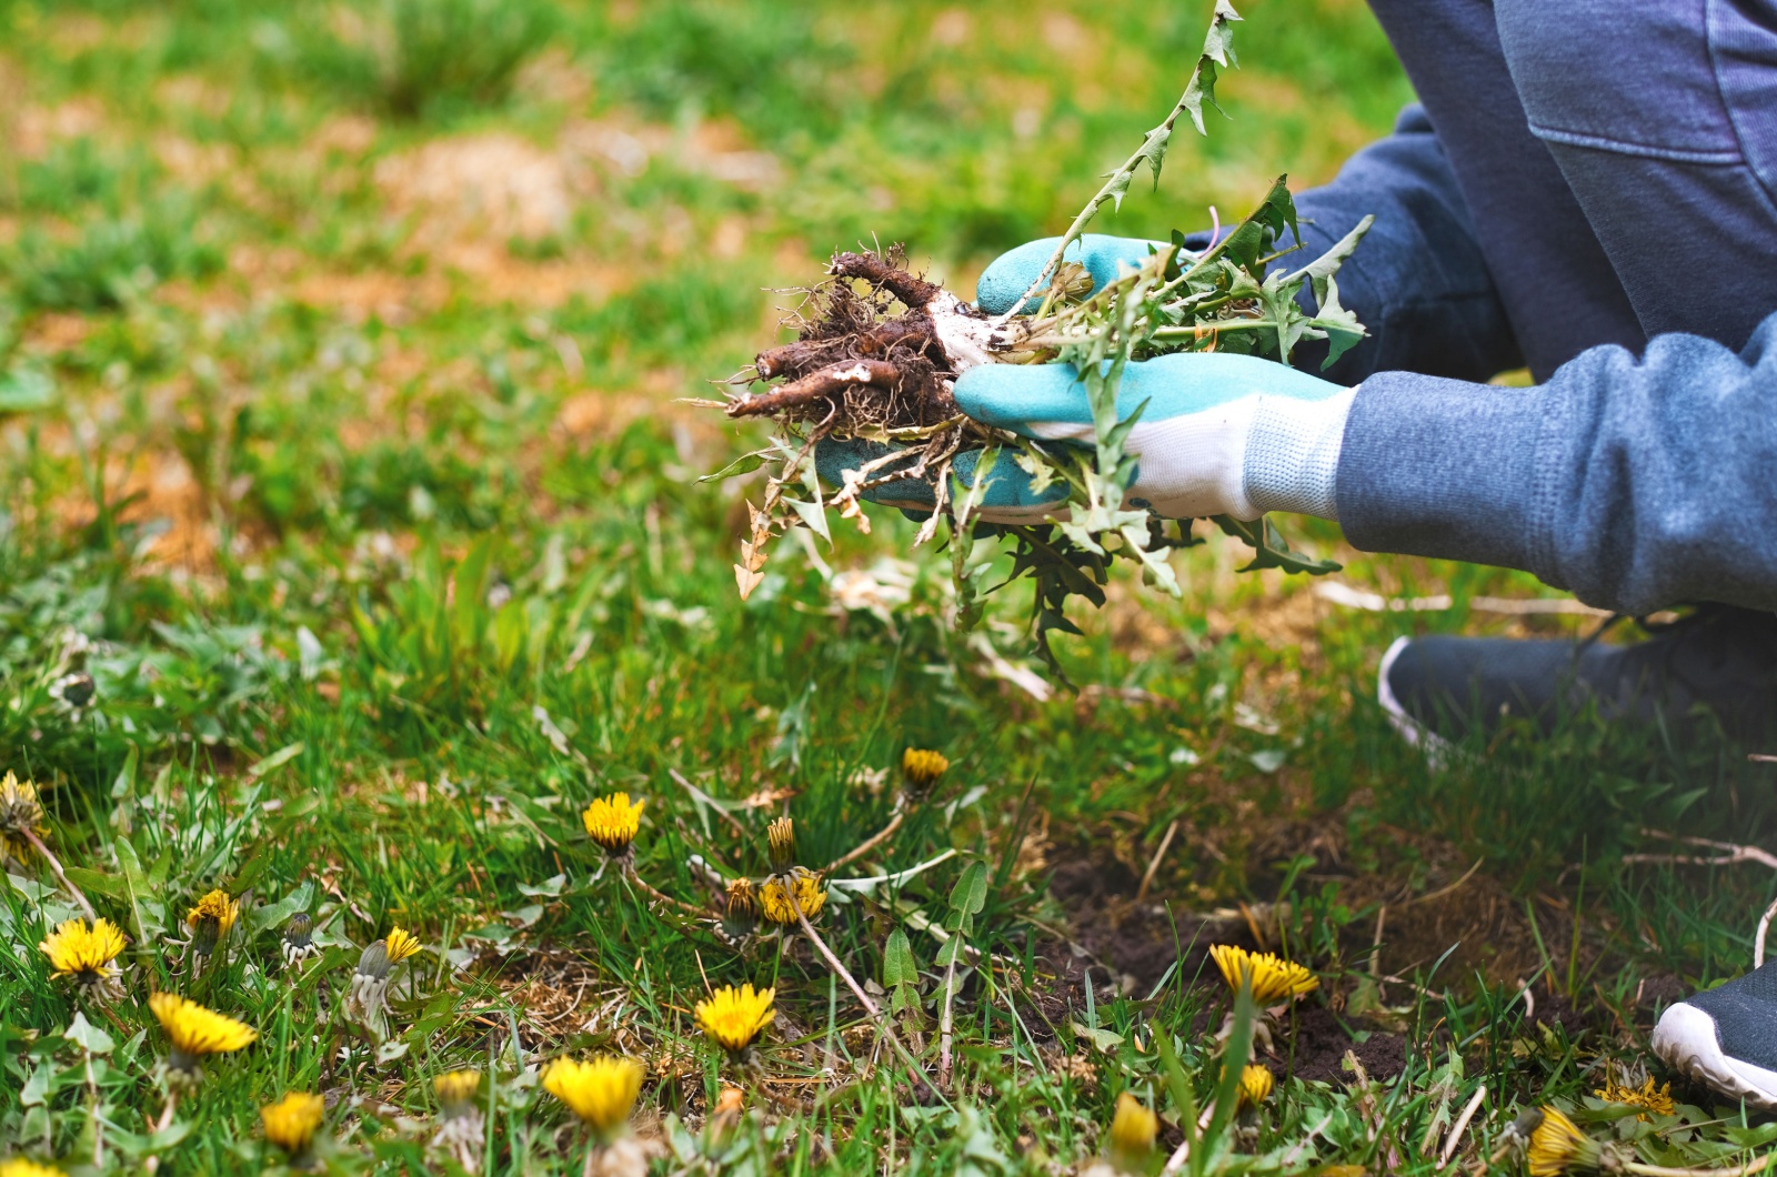
[[[1670,1006],[1653,1045],[1722,1095],[1777,1108],[1777,962]]]

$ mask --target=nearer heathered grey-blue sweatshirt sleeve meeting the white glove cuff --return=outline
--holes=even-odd
[[[1740,354],[1667,334],[1537,388],[1379,372],[1335,494],[1367,551],[1525,569],[1626,613],[1777,608],[1777,315]]]

